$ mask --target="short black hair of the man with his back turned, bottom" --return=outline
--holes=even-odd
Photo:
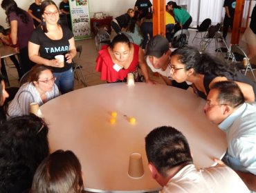
[[[147,159],[162,176],[172,167],[193,163],[190,146],[185,136],[175,128],[162,126],[149,132],[145,138]]]

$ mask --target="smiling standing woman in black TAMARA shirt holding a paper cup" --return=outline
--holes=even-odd
[[[60,13],[51,0],[42,1],[42,24],[38,26],[28,42],[28,54],[32,61],[53,70],[56,85],[62,94],[73,90],[74,77],[72,59],[75,57],[74,35],[66,26],[61,26]],[[64,65],[55,59],[64,55]]]

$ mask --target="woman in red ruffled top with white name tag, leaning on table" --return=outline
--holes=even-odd
[[[96,62],[95,70],[101,72],[100,79],[108,83],[126,81],[128,73],[133,73],[134,80],[140,81],[138,65],[146,83],[153,83],[149,79],[143,50],[138,45],[130,43],[125,34],[118,34],[109,46],[100,50]]]

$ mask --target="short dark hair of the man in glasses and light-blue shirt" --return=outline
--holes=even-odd
[[[236,108],[245,102],[243,92],[234,81],[219,81],[211,86],[210,90],[213,89],[219,90],[217,97],[219,103]]]

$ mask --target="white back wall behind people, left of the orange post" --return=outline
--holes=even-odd
[[[31,3],[34,0],[15,0],[19,8],[28,10]],[[62,0],[53,0],[59,6]],[[90,15],[93,16],[94,12],[104,12],[113,17],[117,17],[120,14],[127,12],[129,8],[134,8],[136,0],[89,0]],[[6,14],[2,8],[0,8],[0,25],[4,28],[8,28],[6,23]]]

